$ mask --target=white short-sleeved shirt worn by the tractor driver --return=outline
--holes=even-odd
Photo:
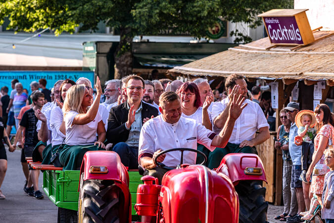
[[[213,151],[216,147],[211,146],[211,142],[215,135],[193,119],[181,116],[178,122],[171,124],[167,123],[162,115],[158,115],[143,124],[139,137],[138,158],[152,157],[159,149],[197,149],[197,143]],[[181,152],[174,151],[167,153],[162,163],[168,167],[177,167],[180,161]],[[185,151],[183,163],[195,164],[196,153]]]

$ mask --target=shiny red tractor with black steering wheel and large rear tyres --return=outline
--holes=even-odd
[[[253,154],[229,154],[220,167],[181,162],[158,185],[157,178],[143,176],[137,189],[137,214],[145,223],[264,223],[268,203],[264,200],[266,181],[260,158]],[[98,158],[98,159],[97,159]],[[156,161],[156,160],[155,160]],[[101,166],[103,164],[103,166]],[[78,222],[131,223],[129,175],[114,152],[87,152],[81,168]],[[239,199],[238,199],[239,197]]]

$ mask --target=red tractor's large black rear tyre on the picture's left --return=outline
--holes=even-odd
[[[122,192],[113,181],[83,180],[78,203],[79,223],[118,223]]]

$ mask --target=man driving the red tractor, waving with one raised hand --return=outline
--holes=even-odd
[[[219,134],[215,134],[192,119],[181,117],[179,96],[174,92],[163,93],[159,99],[161,115],[145,122],[140,134],[138,160],[145,169],[143,175],[154,176],[161,184],[162,177],[168,169],[158,167],[154,158],[163,150],[172,148],[196,149],[197,143],[206,146],[210,151],[216,147],[224,148],[232,134],[236,119],[247,106],[247,104],[242,105],[244,98],[241,95],[237,98],[239,90],[239,85],[233,89],[234,95],[229,115]],[[180,164],[180,158],[181,154],[178,151],[173,151],[160,155],[157,162],[166,167],[175,168]],[[195,164],[196,154],[186,151],[184,161],[185,164]]]

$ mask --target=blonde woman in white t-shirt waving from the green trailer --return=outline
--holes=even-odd
[[[62,108],[66,138],[64,148],[59,152],[60,164],[64,166],[64,170],[79,169],[87,151],[104,150],[105,148],[103,144],[105,128],[98,112],[102,94],[98,77],[95,88],[97,95],[92,106],[92,95],[85,85],[73,85],[66,93]],[[98,135],[97,141],[96,133]]]

